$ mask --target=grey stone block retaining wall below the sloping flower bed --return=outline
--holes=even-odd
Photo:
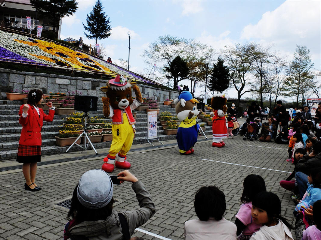
[[[166,99],[175,99],[178,92],[160,89],[157,87],[140,86],[143,98],[153,98],[158,101]],[[78,90],[83,96],[102,97],[105,94],[100,91],[100,87],[106,86],[106,80],[94,78],[82,78],[72,76],[61,76],[46,73],[21,72],[0,68],[0,94],[6,96],[6,92],[18,89],[31,90],[34,88],[41,89],[44,94],[49,92],[73,92]],[[135,96],[133,92],[133,96]]]

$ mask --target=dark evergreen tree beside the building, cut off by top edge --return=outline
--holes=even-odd
[[[51,19],[54,31],[56,31],[56,23],[64,16],[73,15],[78,8],[78,3],[75,0],[30,0],[37,11],[41,12]]]

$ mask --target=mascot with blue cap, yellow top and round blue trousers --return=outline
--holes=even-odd
[[[176,104],[176,114],[181,121],[176,135],[176,140],[180,154],[194,153],[194,145],[197,142],[199,124],[196,118],[202,114],[202,110],[197,110],[198,101],[192,97],[188,91],[183,91],[174,100]]]

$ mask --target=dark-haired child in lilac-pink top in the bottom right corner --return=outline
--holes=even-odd
[[[313,205],[313,221],[316,225],[312,225],[303,231],[302,240],[321,239],[321,200]]]

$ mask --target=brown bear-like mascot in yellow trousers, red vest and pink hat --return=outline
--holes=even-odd
[[[113,141],[109,149],[108,156],[104,158],[102,169],[106,172],[114,171],[116,167],[122,169],[130,168],[130,163],[125,161],[126,154],[130,150],[135,135],[135,119],[132,110],[143,103],[142,94],[136,83],[132,79],[126,79],[117,75],[116,78],[107,82],[106,87],[100,90],[106,93],[107,97],[102,97],[103,112],[105,117],[111,117]],[[136,99],[132,98],[132,88],[136,94]],[[116,156],[117,155],[117,156]]]

